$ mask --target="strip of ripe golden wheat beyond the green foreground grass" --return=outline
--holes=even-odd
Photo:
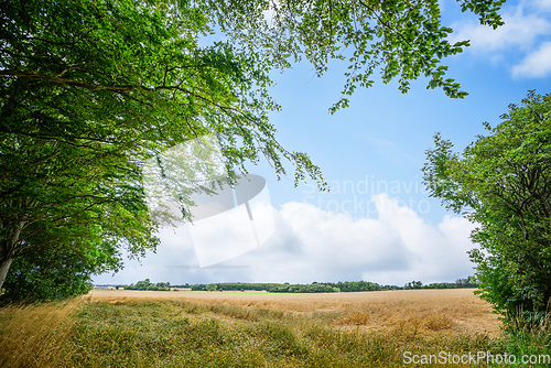
[[[94,290],[94,300],[127,297],[184,299],[206,304],[264,307],[287,313],[326,314],[341,327],[420,328],[426,333],[500,333],[498,315],[473,289],[400,290],[322,294],[242,294]]]

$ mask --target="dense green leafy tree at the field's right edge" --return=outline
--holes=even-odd
[[[435,136],[423,181],[477,225],[469,252],[482,296],[509,316],[551,299],[551,96],[530,91],[463,154]]]

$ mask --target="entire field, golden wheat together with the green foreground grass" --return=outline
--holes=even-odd
[[[499,327],[473,290],[95,290],[0,309],[0,366],[400,367],[404,351],[505,351]]]

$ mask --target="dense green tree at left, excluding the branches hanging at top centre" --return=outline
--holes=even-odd
[[[197,46],[201,9],[4,1],[1,17],[0,286],[15,257],[68,241],[55,234],[67,227],[98,228],[134,256],[154,249],[141,167],[179,142],[214,133],[230,172],[263,154],[278,174],[284,156],[298,180],[320,177],[273,139],[262,62],[229,43]]]

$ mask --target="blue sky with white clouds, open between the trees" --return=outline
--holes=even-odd
[[[483,122],[499,123],[508,105],[520,104],[528,90],[551,93],[551,0],[507,1],[505,25],[497,30],[479,25],[453,0],[440,4],[443,24],[454,30],[451,41],[471,40],[464,53],[444,61],[447,76],[467,97],[450,99],[441,89],[425,89],[425,78],[411,83],[408,94],[396,82],[376,79],[371,88],[356,90],[348,108],[329,115],[347,65],[331,63],[322,78],[306,63],[273,73],[271,96],[282,106],[270,115],[277,138],[285,149],[310,155],[329,192],[317,192],[312,182],[294,187],[291,165],[281,181],[266,162],[250,165],[251,174],[266,180],[255,197],[263,202],[248,198],[250,208],[241,204],[195,228],[163,228],[156,253],[140,262],[125,260],[123,270],[96,275],[94,283],[149,278],[172,284],[365,280],[403,285],[474,274],[467,251],[476,247],[469,240],[475,225],[424,191],[425,150],[440,131],[462,151],[485,133]],[[250,234],[237,234],[241,223],[233,220],[247,210],[257,219],[252,232],[247,227],[255,237],[239,246],[236,239]],[[208,258],[209,252],[218,258]]]

